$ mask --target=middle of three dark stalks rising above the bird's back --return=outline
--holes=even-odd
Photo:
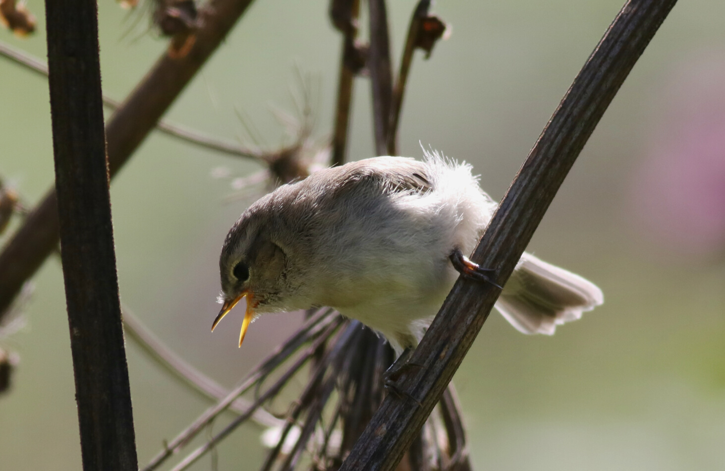
[[[368,70],[373,87],[373,129],[377,155],[387,152],[390,100],[393,89],[390,40],[385,0],[368,0],[370,7],[370,52]]]

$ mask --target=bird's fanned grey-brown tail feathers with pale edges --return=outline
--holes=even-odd
[[[524,253],[496,303],[525,334],[552,335],[556,326],[581,318],[604,302],[595,284]]]

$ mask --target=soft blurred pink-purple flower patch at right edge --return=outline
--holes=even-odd
[[[725,252],[725,54],[682,65],[658,99],[632,209],[648,240],[711,258]]]

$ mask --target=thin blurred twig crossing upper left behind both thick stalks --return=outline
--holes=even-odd
[[[0,41],[0,56],[12,60],[16,64],[22,65],[28,70],[38,73],[38,75],[43,75],[45,77],[48,76],[48,66],[43,61],[31,56],[27,52],[15,49],[2,41]],[[112,99],[105,94],[103,95],[103,104],[110,110],[116,110],[121,106],[119,101]],[[200,131],[187,128],[186,126],[181,126],[180,124],[169,123],[166,120],[159,120],[159,122],[156,123],[156,128],[159,131],[162,131],[162,133],[199,147],[205,147],[209,150],[223,152],[224,154],[234,155],[236,157],[247,157],[260,162],[265,161],[262,158],[262,152],[252,150],[247,147],[241,147],[235,142],[220,139],[218,137],[212,137]]]

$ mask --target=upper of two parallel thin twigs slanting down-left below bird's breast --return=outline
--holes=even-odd
[[[253,369],[252,372],[249,372],[241,384],[234,388],[231,393],[223,399],[223,401],[220,401],[216,406],[204,411],[198,419],[186,427],[186,430],[183,430],[183,432],[174,438],[173,441],[167,443],[164,449],[160,451],[157,456],[154,456],[154,459],[146,465],[144,471],[155,470],[159,467],[159,465],[165,462],[167,458],[178,453],[178,451],[181,451],[181,448],[186,445],[188,441],[191,441],[191,439],[198,435],[200,431],[204,430],[204,427],[215,419],[215,417],[228,409],[228,407],[236,401],[236,398],[239,398],[239,396],[253,388],[257,382],[260,382],[267,377],[270,372],[286,361],[286,359],[301,348],[302,345],[305,345],[305,343],[310,342],[310,340],[313,339],[316,339],[315,342],[322,341],[320,338],[326,340],[326,335],[329,335],[331,329],[334,330],[334,328],[339,325],[339,321],[336,319],[339,319],[339,315],[333,313],[329,309],[320,310],[318,314],[310,317],[302,328],[298,329],[294,335],[286,340],[286,342],[278,346],[278,348],[276,348],[276,350],[268,356],[265,361],[262,361],[259,366]],[[304,356],[305,355],[303,355],[303,357]],[[254,404],[257,404],[258,406],[262,403],[260,401],[256,401]],[[254,406],[254,404],[252,406]],[[256,406],[254,406],[254,409],[256,410]],[[254,410],[252,410],[252,412],[253,411]],[[249,412],[249,409],[247,409],[247,412]],[[240,418],[241,417],[245,417],[245,415],[243,414]],[[236,420],[239,420],[240,418],[237,418]]]

